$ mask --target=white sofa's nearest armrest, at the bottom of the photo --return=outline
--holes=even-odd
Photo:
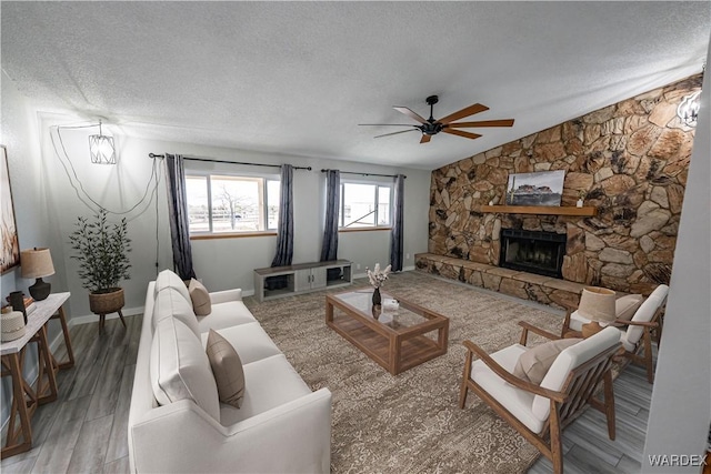
[[[183,400],[129,430],[133,472],[328,473],[331,392],[321,389],[231,426]]]

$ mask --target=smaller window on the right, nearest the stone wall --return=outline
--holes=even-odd
[[[341,229],[390,226],[392,186],[341,182]]]

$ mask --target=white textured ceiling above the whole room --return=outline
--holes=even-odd
[[[701,71],[701,2],[7,2],[2,70],[137,137],[434,169]],[[511,129],[373,139],[475,102]],[[414,123],[414,122],[412,122]],[[169,150],[177,151],[180,150]]]

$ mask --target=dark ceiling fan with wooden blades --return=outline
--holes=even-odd
[[[432,135],[438,134],[439,132],[451,133],[453,135],[464,137],[468,139],[478,139],[481,137],[478,133],[467,132],[464,130],[458,129],[470,129],[470,128],[479,128],[479,127],[512,127],[513,119],[503,119],[503,120],[480,120],[478,122],[454,122],[455,120],[463,119],[464,117],[473,115],[474,113],[483,112],[489,110],[487,105],[482,105],[480,103],[474,103],[473,105],[469,105],[463,108],[462,110],[450,113],[449,115],[434,120],[432,117],[432,112],[434,110],[434,104],[439,102],[439,97],[430,95],[425,99],[428,105],[430,105],[430,118],[424,120],[418,113],[408,109],[407,107],[393,107],[400,113],[404,113],[409,118],[413,119],[417,122],[420,122],[419,125],[405,124],[405,123],[359,123],[359,125],[383,125],[383,127],[412,127],[410,130],[402,130],[400,132],[384,133],[382,135],[375,135],[374,138],[379,139],[381,137],[390,137],[397,135],[399,133],[422,132],[422,139],[420,139],[420,143],[428,143]]]

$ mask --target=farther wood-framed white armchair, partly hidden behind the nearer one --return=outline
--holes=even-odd
[[[660,284],[640,305],[631,321],[614,321],[618,324],[624,324],[617,327],[620,332],[620,342],[624,347],[622,355],[647,369],[649,383],[654,382],[652,337],[659,344],[662,330],[661,313],[668,294],[669,286]],[[581,316],[578,311],[568,311],[563,321],[561,336],[569,332],[581,332],[582,325],[589,322],[590,320]]]

